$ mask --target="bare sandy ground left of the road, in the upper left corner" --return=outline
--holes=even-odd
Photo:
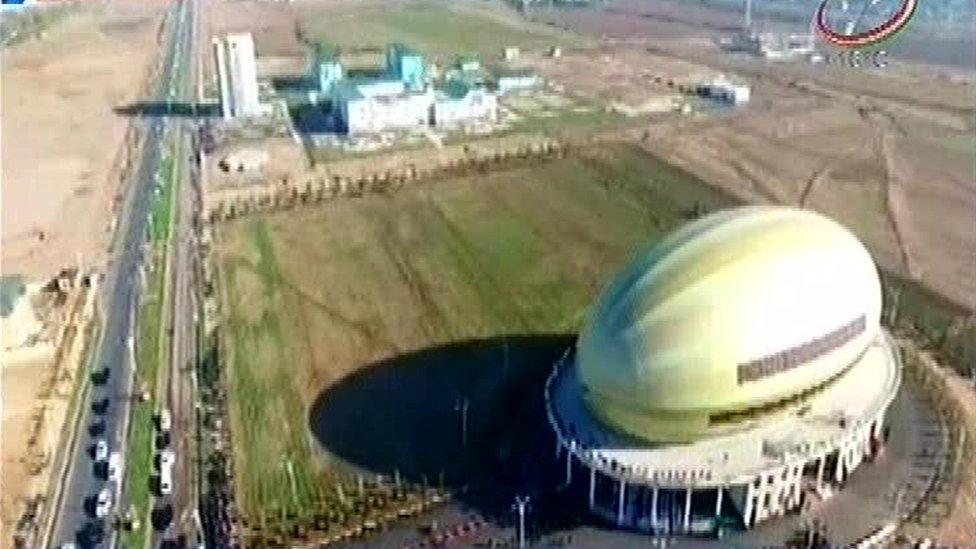
[[[46,279],[104,256],[118,155],[156,53],[163,2],[77,6],[3,51],[3,265]]]

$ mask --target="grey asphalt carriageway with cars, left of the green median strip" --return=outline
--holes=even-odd
[[[169,13],[169,36],[164,44],[162,67],[154,85],[153,101],[165,101],[180,81],[181,69],[189,66],[192,47],[191,27],[187,24],[191,0],[175,4]],[[87,402],[79,412],[80,427],[64,479],[59,501],[55,503],[55,519],[51,544],[74,542],[80,547],[110,547],[115,536],[109,520],[97,521],[93,516],[93,498],[102,488],[108,488],[117,504],[120,489],[96,474],[91,452],[95,441],[105,439],[112,451],[125,451],[125,436],[129,404],[133,395],[131,341],[134,312],[140,292],[140,268],[147,239],[148,216],[153,207],[153,186],[161,165],[165,118],[146,118],[146,138],[140,152],[136,171],[130,181],[128,213],[120,216],[116,248],[106,268],[102,286],[102,311],[105,315],[102,337],[95,352],[95,370],[107,368],[107,379],[91,384]],[[145,479],[134,479],[145,482]],[[113,512],[118,505],[113,506]],[[85,529],[101,523],[104,540],[92,544]]]

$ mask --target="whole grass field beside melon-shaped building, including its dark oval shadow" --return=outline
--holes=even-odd
[[[497,494],[545,462],[525,458],[548,441],[530,388],[572,344],[606,275],[692,211],[727,203],[635,147],[605,145],[221,225],[249,525],[308,520],[357,471],[487,484],[495,500],[473,491],[465,504],[507,509]],[[912,285],[887,282],[903,288],[900,324],[931,321]],[[471,410],[465,448],[459,398]]]

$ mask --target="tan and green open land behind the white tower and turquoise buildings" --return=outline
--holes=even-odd
[[[203,15],[203,27],[211,36],[251,32],[261,76],[282,76],[278,69],[283,67],[300,72],[314,43],[343,49],[346,63],[358,66],[367,60],[373,65],[381,58],[383,46],[391,42],[422,50],[439,62],[452,62],[468,53],[497,59],[506,45],[542,49],[586,42],[527,23],[497,4],[470,1],[212,2]],[[213,74],[211,56],[204,59],[204,67]]]

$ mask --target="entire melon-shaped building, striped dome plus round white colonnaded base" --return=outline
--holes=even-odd
[[[655,534],[749,528],[881,447],[901,366],[864,246],[807,210],[746,207],[642,251],[546,383],[566,483]]]

